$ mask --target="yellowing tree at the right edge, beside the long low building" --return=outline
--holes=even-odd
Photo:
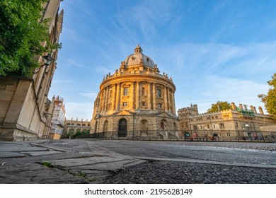
[[[265,104],[268,113],[276,120],[276,73],[272,76],[272,80],[268,81],[268,85],[270,86],[268,94],[259,94],[258,97]]]

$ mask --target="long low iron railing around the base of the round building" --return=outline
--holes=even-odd
[[[179,140],[179,141],[203,141],[204,136],[217,134],[219,141],[271,141],[275,142],[276,132],[260,131],[132,131],[126,136],[118,136],[118,131],[99,132],[94,134],[84,134],[76,138],[98,138],[98,139],[144,139],[144,140]],[[209,140],[212,141],[212,140]]]

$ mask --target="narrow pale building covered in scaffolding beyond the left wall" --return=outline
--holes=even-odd
[[[52,113],[51,130],[49,139],[61,139],[64,133],[65,107],[63,98],[52,98],[54,112]]]

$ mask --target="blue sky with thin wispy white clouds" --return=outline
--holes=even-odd
[[[49,97],[91,120],[103,76],[138,44],[176,84],[176,110],[218,100],[264,108],[276,72],[276,1],[64,0]]]

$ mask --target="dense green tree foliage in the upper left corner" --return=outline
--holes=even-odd
[[[0,75],[29,76],[39,66],[35,55],[49,50],[47,21],[40,21],[47,0],[0,1]],[[43,47],[42,42],[47,42]]]

